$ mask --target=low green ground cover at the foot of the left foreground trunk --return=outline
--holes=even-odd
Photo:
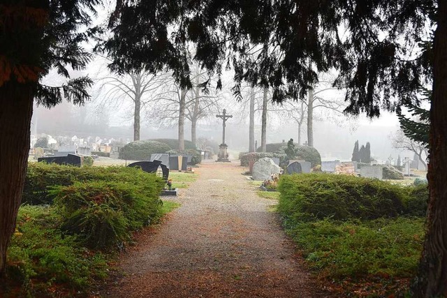
[[[54,207],[20,207],[6,261],[8,278],[18,283],[20,297],[85,295],[89,285],[105,278],[105,255],[61,232],[61,220]]]

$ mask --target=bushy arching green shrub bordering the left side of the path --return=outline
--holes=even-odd
[[[147,176],[152,178],[144,181],[152,185],[150,188],[141,184],[143,181],[54,186],[50,194],[64,218],[61,229],[78,235],[89,248],[109,248],[129,240],[131,231],[149,225],[159,216],[163,182],[155,175]]]

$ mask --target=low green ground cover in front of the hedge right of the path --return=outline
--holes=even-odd
[[[412,277],[423,247],[423,218],[286,223],[305,259],[330,279]]]

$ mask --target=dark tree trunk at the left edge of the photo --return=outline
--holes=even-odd
[[[13,81],[0,87],[0,277],[27,174],[34,89]]]

